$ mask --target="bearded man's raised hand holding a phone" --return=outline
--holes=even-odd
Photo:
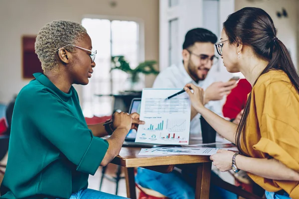
[[[237,84],[235,80],[228,82],[214,82],[204,92],[204,103],[206,104],[211,100],[222,100],[222,98],[228,95],[236,86]]]

